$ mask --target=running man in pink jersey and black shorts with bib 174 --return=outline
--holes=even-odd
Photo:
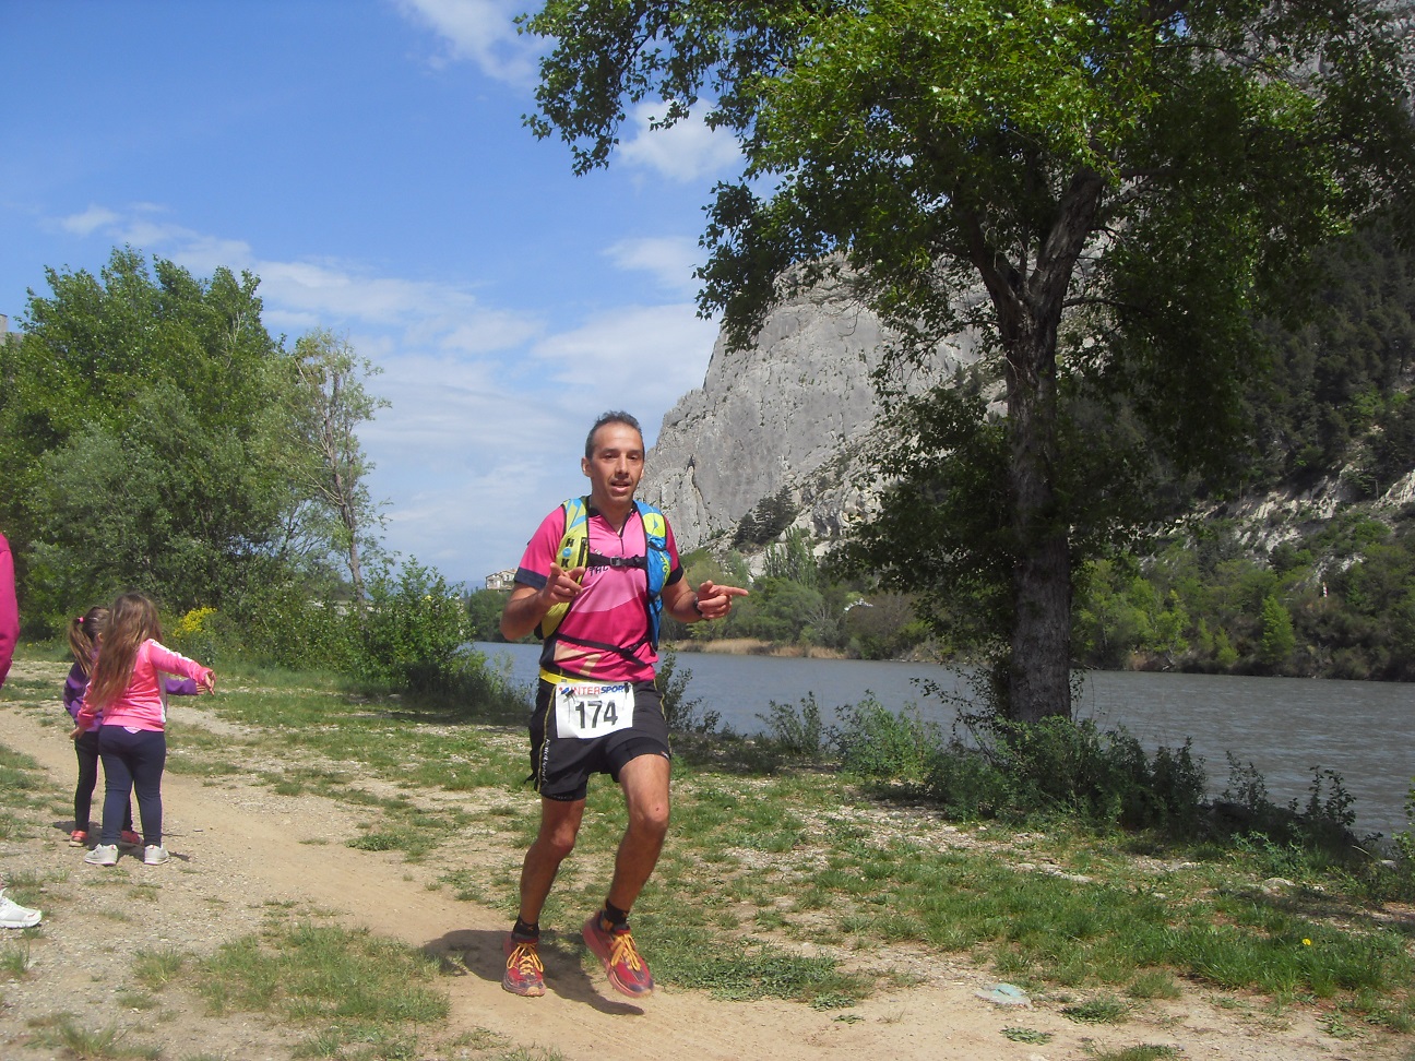
[[[604,908],[582,934],[610,983],[642,997],[654,978],[634,946],[628,914],[664,847],[671,772],[668,723],[654,686],[659,617],[722,618],[747,591],[712,581],[693,591],[683,581],[662,514],[634,499],[644,433],[633,416],[611,412],[594,422],[580,470],[589,497],[566,501],[541,522],[501,615],[508,641],[531,631],[545,639],[531,716],[541,830],[521,867],[521,910],[507,935],[501,986],[545,995],[541,908],[574,847],[590,774],[608,774],[624,791],[628,826]]]

